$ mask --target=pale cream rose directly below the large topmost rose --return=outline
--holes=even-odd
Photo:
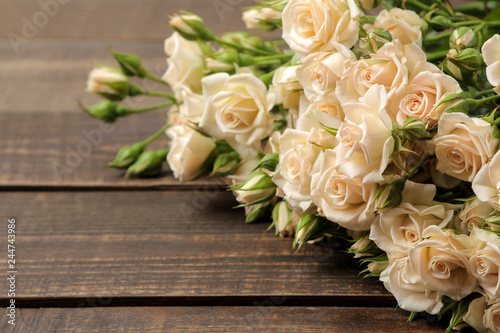
[[[338,43],[334,45],[336,52],[311,53],[297,69],[297,78],[311,102],[333,94],[337,81],[344,73],[344,63],[348,59],[355,59],[345,46]]]

